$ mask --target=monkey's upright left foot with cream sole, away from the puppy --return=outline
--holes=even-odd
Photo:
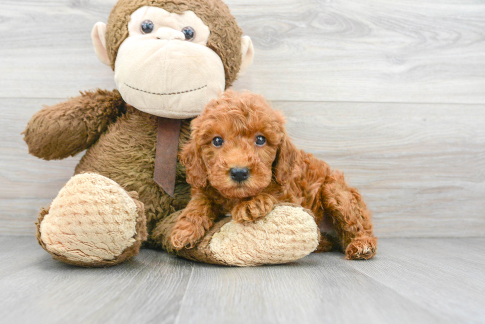
[[[101,175],[76,175],[41,211],[37,240],[54,259],[77,266],[129,260],[147,237],[144,206],[137,198]]]

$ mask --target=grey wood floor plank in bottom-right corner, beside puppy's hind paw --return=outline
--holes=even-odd
[[[453,323],[485,321],[484,239],[382,243],[377,262],[345,263]]]

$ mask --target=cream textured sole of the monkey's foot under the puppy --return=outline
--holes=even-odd
[[[212,256],[231,266],[281,264],[313,252],[319,230],[313,216],[300,206],[282,204],[254,223],[224,224],[212,235]]]

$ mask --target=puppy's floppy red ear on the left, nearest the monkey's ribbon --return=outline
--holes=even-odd
[[[194,187],[201,188],[207,185],[207,170],[202,156],[199,152],[198,138],[198,118],[194,119],[191,124],[192,134],[189,142],[180,152],[180,163],[185,165],[187,173],[187,183]]]

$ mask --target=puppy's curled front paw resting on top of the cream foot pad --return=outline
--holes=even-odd
[[[275,203],[276,199],[272,195],[260,194],[234,206],[231,215],[237,223],[253,223],[266,216],[273,209]]]

